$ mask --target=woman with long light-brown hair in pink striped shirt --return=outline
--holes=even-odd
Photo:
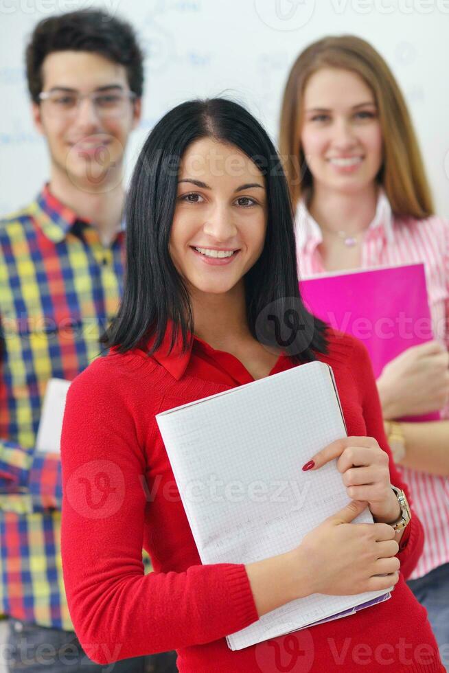
[[[402,93],[369,43],[327,37],[300,54],[284,92],[280,150],[297,209],[300,277],[424,262],[435,339],[389,363],[378,391],[387,433],[394,419],[443,410],[439,421],[393,427],[426,531],[411,588],[447,666],[449,225],[434,214]]]

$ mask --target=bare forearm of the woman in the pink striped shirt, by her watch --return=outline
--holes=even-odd
[[[398,464],[449,477],[449,420],[401,423],[406,453]]]

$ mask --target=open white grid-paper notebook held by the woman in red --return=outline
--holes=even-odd
[[[325,363],[292,367],[156,419],[203,564],[246,564],[294,549],[349,501],[336,461],[301,470],[346,435]],[[369,510],[355,521],[373,523]],[[228,645],[240,650],[389,597],[389,591],[313,594],[230,634]]]

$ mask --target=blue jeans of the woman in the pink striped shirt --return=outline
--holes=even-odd
[[[441,661],[449,671],[449,563],[435,568],[408,586],[424,605],[439,646]]]

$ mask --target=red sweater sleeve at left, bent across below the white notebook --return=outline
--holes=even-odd
[[[214,641],[258,619],[242,564],[144,574],[151,505],[136,401],[104,359],[71,385],[61,441],[67,602],[82,647],[101,664]]]

